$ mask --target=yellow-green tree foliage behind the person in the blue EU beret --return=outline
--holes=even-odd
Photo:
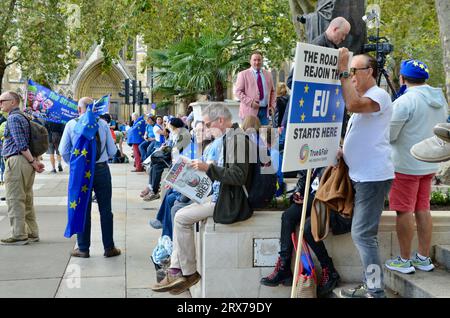
[[[398,86],[401,61],[414,58],[430,68],[430,85],[444,87],[442,46],[434,0],[408,0],[402,1],[401,5],[395,0],[369,0],[368,4],[380,6],[384,23],[380,34],[394,45],[388,62],[394,83]],[[369,35],[371,31],[374,32],[368,30]]]

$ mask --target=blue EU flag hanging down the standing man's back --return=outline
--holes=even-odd
[[[78,137],[70,156],[68,222],[64,236],[70,238],[84,231],[86,211],[94,181],[98,123],[91,107],[87,107],[75,125]]]

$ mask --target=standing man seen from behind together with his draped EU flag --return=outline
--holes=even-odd
[[[70,165],[68,189],[68,223],[64,236],[77,234],[78,248],[74,257],[89,257],[91,243],[91,199],[95,191],[100,211],[105,257],[120,255],[113,240],[111,211],[111,173],[108,159],[116,152],[108,124],[96,119],[92,112],[93,100],[83,97],[78,102],[79,118],[66,124],[59,151]]]

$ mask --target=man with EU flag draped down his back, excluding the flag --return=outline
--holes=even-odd
[[[83,97],[78,101],[78,113],[83,115],[88,105],[92,104],[94,100],[90,97]],[[66,124],[64,133],[61,137],[61,142],[59,144],[59,152],[63,157],[64,161],[70,162],[70,156],[73,152],[73,148],[80,137],[75,132],[75,125],[77,124],[78,118],[70,120]],[[105,257],[112,257],[120,255],[120,250],[115,247],[113,240],[113,214],[111,209],[111,197],[112,197],[112,185],[111,185],[111,173],[108,167],[108,159],[112,158],[116,153],[116,145],[111,136],[109,126],[105,120],[98,120],[98,131],[96,134],[96,139],[100,140],[97,142],[97,160],[95,162],[94,171],[94,181],[92,189],[97,197],[98,209],[100,211],[100,224],[102,228],[102,241],[104,247]],[[91,245],[91,203],[86,211],[86,219],[84,231],[77,233],[77,243],[78,248],[71,252],[73,257],[88,258],[89,248]]]

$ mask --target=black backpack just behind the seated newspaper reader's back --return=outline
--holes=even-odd
[[[256,163],[251,164],[252,183],[248,191],[248,202],[252,209],[262,209],[267,207],[275,196],[277,191],[277,174],[275,169],[266,166],[260,160],[259,134],[257,134],[256,152]],[[267,155],[269,155],[269,150],[267,150]]]

